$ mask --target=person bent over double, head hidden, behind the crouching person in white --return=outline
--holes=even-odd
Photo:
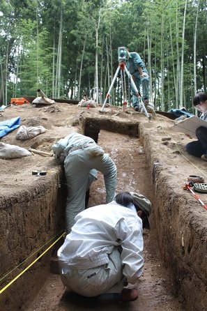
[[[75,216],[84,210],[86,191],[97,179],[98,171],[104,175],[106,203],[116,195],[117,169],[108,153],[98,146],[91,137],[77,132],[52,146],[56,158],[64,160],[67,181],[66,229],[70,232]]]

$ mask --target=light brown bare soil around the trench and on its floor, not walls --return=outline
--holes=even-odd
[[[148,121],[144,114],[133,112],[128,108],[127,112],[123,114],[121,108],[115,107],[107,109],[109,118],[111,115],[117,116],[119,119],[131,119],[132,122],[139,119],[145,122],[152,135],[155,135],[155,144],[157,144],[156,152],[162,154],[162,162],[169,168],[169,174],[178,170],[184,176],[192,174],[202,174],[206,172],[206,163],[196,159],[195,164],[198,165],[196,169],[189,170],[189,161],[177,158],[176,148],[171,142],[161,142],[161,137],[171,135],[169,126],[172,121],[164,116],[157,116],[157,118]],[[38,135],[34,139],[26,141],[18,141],[15,139],[17,130],[11,132],[9,135],[3,137],[0,142],[8,142],[9,144],[18,144],[26,149],[38,140],[38,149],[49,152],[52,144],[61,137],[65,137],[73,130],[82,132],[79,126],[80,116],[91,115],[102,118],[99,114],[98,108],[79,109],[75,105],[55,104],[49,107],[32,107],[31,105],[22,105],[6,108],[0,112],[0,121],[3,119],[10,119],[14,116],[21,116],[22,124],[27,126],[45,126],[47,131]],[[163,130],[166,129],[167,131]],[[162,134],[160,135],[160,132]],[[160,135],[160,136],[159,136]],[[185,155],[184,145],[189,141],[182,134],[175,134],[179,147]],[[117,192],[122,190],[136,190],[146,195],[153,204],[156,204],[153,193],[153,185],[151,184],[151,176],[148,172],[148,163],[146,153],[144,152],[144,144],[137,137],[108,132],[101,130],[98,137],[98,144],[102,146],[111,156],[118,168],[118,183]],[[165,148],[171,150],[171,158],[169,153],[165,152]],[[181,160],[181,162],[178,162]],[[33,179],[29,177],[26,172],[31,172],[32,169],[54,169],[54,162],[52,158],[42,157],[40,155],[32,155],[31,157],[2,160],[1,165],[1,195],[11,195],[14,189],[18,191],[24,190],[25,185],[32,187]],[[182,168],[181,168],[182,167]],[[187,174],[187,175],[186,175]],[[205,174],[205,173],[204,173]],[[182,174],[181,174],[182,175]],[[183,176],[183,181],[185,177]],[[181,177],[182,178],[182,177]],[[175,176],[175,183],[176,183]],[[91,188],[91,197],[89,206],[102,204],[105,202],[105,187],[102,176],[98,176],[98,181],[93,183]],[[190,197],[190,196],[189,196]],[[204,195],[206,199],[207,195]],[[193,201],[194,199],[192,199]],[[203,214],[202,214],[203,215]],[[201,221],[207,218],[202,218]],[[145,268],[144,275],[141,276],[140,282],[137,284],[139,289],[139,299],[132,303],[110,303],[107,305],[97,304],[95,301],[88,298],[82,298],[75,294],[68,292],[62,285],[59,275],[52,274],[45,282],[45,286],[40,289],[36,299],[29,304],[27,311],[43,311],[43,310],[139,310],[139,311],[181,311],[185,310],[181,304],[181,297],[174,296],[174,285],[167,273],[165,264],[160,258],[160,249],[158,245],[156,223],[152,213],[151,215],[151,231],[144,230],[144,259]]]

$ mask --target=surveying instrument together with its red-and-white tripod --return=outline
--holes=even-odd
[[[136,86],[134,80],[132,79],[130,72],[128,71],[128,68],[126,68],[126,66],[125,66],[127,54],[128,54],[128,50],[126,47],[118,47],[118,68],[116,69],[116,73],[112,79],[112,84],[109,86],[109,91],[108,91],[107,96],[105,98],[105,102],[102,105],[101,111],[103,111],[105,109],[107,99],[110,97],[112,87],[114,86],[114,82],[116,81],[116,77],[117,77],[118,72],[120,70],[123,107],[125,107],[127,105],[127,91],[126,91],[126,83],[125,83],[125,73],[126,73],[128,75],[129,83],[132,86],[132,89],[135,90],[135,93],[136,93],[135,95],[139,99],[139,107],[143,108],[144,113],[146,114],[148,119],[151,119],[151,116],[149,116],[148,112],[146,111],[146,107],[145,107],[145,105],[141,99],[141,94],[137,90],[137,86]]]

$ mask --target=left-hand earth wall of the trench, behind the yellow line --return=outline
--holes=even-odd
[[[62,176],[61,168],[57,174]],[[25,186],[24,191],[9,197],[0,196],[0,275],[17,267],[1,279],[1,289],[36,260],[55,239],[45,243],[63,230],[65,191],[59,188],[57,174],[38,176],[33,187]],[[46,280],[51,256],[49,250],[3,291],[0,310],[24,310],[24,303],[33,299]]]

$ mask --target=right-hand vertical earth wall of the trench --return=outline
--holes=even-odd
[[[160,253],[168,268],[174,291],[188,311],[207,310],[207,234],[205,222],[198,222],[189,199],[174,183],[155,149],[153,135],[143,125],[139,137],[144,142],[146,158],[155,190],[155,222]],[[170,155],[169,155],[170,156]],[[194,198],[192,199],[194,206]]]

